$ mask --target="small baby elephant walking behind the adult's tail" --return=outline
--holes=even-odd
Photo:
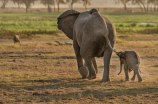
[[[120,57],[120,72],[122,71],[122,64],[124,64],[124,72],[125,72],[125,80],[129,81],[128,71],[134,71],[134,75],[131,78],[132,81],[135,79],[135,75],[137,74],[138,82],[142,81],[141,76],[139,75],[138,69],[140,64],[140,57],[138,53],[135,51],[124,51],[124,52],[117,52],[117,55]],[[139,70],[140,71],[140,70]]]

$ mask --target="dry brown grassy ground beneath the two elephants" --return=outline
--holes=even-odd
[[[127,40],[120,36],[115,49],[140,54],[142,82],[137,82],[137,77],[126,82],[124,71],[117,75],[119,58],[114,53],[110,82],[101,82],[102,58],[97,58],[97,78],[81,79],[69,39],[58,40],[59,43],[23,41],[15,45],[11,40],[1,40],[0,104],[157,104],[158,41]],[[132,75],[133,72],[130,78]]]

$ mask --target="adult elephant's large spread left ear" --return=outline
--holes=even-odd
[[[70,39],[73,39],[73,27],[79,14],[75,10],[67,10],[57,18],[58,29],[62,30]]]

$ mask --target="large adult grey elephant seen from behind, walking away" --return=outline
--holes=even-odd
[[[58,18],[58,28],[70,39],[78,63],[78,70],[88,67],[89,79],[96,78],[97,66],[95,57],[104,57],[102,81],[110,81],[109,64],[115,44],[116,31],[112,22],[99,14],[96,9],[79,13],[67,10]],[[86,67],[82,59],[85,60]],[[96,69],[96,70],[95,70]],[[82,78],[86,76],[81,73]]]

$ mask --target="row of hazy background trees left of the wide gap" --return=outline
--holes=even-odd
[[[6,4],[11,1],[14,4],[18,5],[18,8],[20,8],[21,4],[25,5],[26,13],[28,13],[28,9],[35,4],[36,1],[40,1],[41,4],[47,6],[47,11],[52,12],[52,6],[54,7],[54,11],[57,6],[57,11],[60,10],[60,4],[67,4],[70,9],[73,9],[73,5],[75,3],[83,3],[83,6],[87,10],[87,6],[91,5],[92,0],[0,0],[1,2],[1,9],[4,9]]]

